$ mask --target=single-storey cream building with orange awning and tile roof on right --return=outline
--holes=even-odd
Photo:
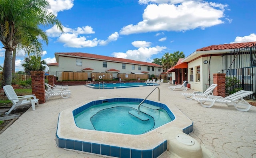
[[[226,73],[237,77],[238,86],[256,93],[256,41],[210,45],[197,49],[192,54],[168,69],[172,79],[179,84],[184,80],[191,89],[205,91],[213,83],[214,73]]]

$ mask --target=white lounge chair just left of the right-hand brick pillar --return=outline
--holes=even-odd
[[[181,94],[184,95],[184,97],[186,97],[186,99],[188,99],[188,100],[192,100],[192,99],[194,99],[194,97],[206,97],[207,98],[209,95],[212,95],[212,91],[214,90],[215,87],[217,87],[217,84],[210,85],[210,87],[208,87],[208,89],[206,89],[206,91],[204,91],[204,92],[194,91],[193,93],[181,93]]]

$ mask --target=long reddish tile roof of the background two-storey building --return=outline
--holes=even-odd
[[[76,56],[76,57],[82,57],[82,58],[91,58],[91,59],[98,59],[98,60],[104,60],[104,61],[114,61],[118,63],[132,63],[137,65],[150,65],[155,67],[162,67],[161,65],[155,64],[155,63],[148,63],[144,61],[136,61],[131,59],[122,59],[117,57],[108,57],[104,55],[96,55],[96,54],[89,54],[89,53],[81,53],[81,52],[69,52],[69,53],[58,53],[56,52],[55,55],[63,55],[63,56]]]

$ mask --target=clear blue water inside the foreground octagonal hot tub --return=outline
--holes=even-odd
[[[94,105],[74,116],[79,128],[124,134],[143,134],[172,119],[166,110],[143,103],[112,102]],[[132,113],[136,114],[135,116]]]

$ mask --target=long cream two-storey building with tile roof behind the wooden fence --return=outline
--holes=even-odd
[[[82,72],[92,71],[99,73],[113,73],[113,77],[117,77],[117,73],[126,74],[145,74],[160,75],[163,72],[161,65],[136,61],[131,59],[123,59],[117,57],[108,57],[104,55],[96,55],[81,52],[55,53],[57,63],[47,64],[52,71],[52,67],[58,65],[58,71]],[[55,70],[55,69],[54,69]],[[56,71],[56,70],[55,70]]]

